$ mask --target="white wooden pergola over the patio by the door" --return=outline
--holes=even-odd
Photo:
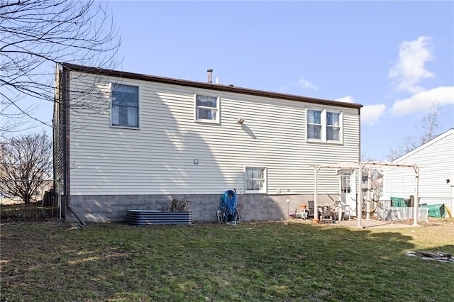
[[[356,194],[356,217],[358,220],[358,228],[362,228],[362,189],[361,189],[361,172],[362,169],[383,169],[383,168],[411,168],[415,172],[415,193],[414,193],[414,213],[413,213],[413,225],[418,225],[419,216],[419,168],[416,164],[394,164],[392,162],[341,162],[337,164],[316,164],[311,165],[314,168],[314,215],[317,215],[317,176],[321,169],[358,169],[358,194]],[[370,194],[367,197],[368,203],[370,203]]]

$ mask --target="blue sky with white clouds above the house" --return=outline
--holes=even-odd
[[[362,104],[363,160],[439,108],[454,128],[454,1],[109,1],[116,69]],[[38,118],[52,119],[45,104]]]

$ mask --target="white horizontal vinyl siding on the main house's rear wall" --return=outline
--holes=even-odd
[[[72,89],[83,79],[72,72]],[[140,86],[140,131],[110,127],[104,82],[116,81]],[[213,91],[139,80],[92,82],[99,110],[71,112],[72,194],[244,192],[246,166],[267,168],[267,194],[313,194],[311,164],[359,160],[358,109],[325,106],[343,114],[343,144],[308,144],[307,104],[301,101],[219,92],[220,123],[194,123],[194,94]],[[339,189],[336,174],[323,172],[319,193]]]

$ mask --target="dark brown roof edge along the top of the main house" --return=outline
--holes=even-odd
[[[324,99],[314,99],[309,98],[306,96],[296,96],[293,94],[279,94],[276,92],[270,91],[262,91],[262,90],[255,90],[255,89],[246,89],[240,88],[233,85],[221,85],[221,84],[209,84],[203,82],[193,82],[187,81],[182,79],[172,79],[167,77],[155,77],[146,74],[136,74],[133,72],[121,72],[118,70],[112,69],[102,69],[96,67],[87,67],[82,65],[72,65],[67,63],[62,63],[61,66],[65,69],[74,70],[77,72],[87,72],[90,74],[101,74],[106,76],[113,76],[113,77],[120,77],[124,79],[138,79],[143,81],[151,81],[151,82],[158,82],[158,83],[165,83],[165,84],[174,84],[174,85],[182,85],[182,86],[191,86],[196,88],[202,89],[211,89],[216,91],[227,91],[227,92],[234,92],[238,94],[248,94],[252,96],[264,96],[274,99],[285,99],[285,100],[292,100],[292,101],[302,101],[311,104],[321,104],[321,105],[328,105],[328,106],[339,106],[345,108],[358,108],[358,110],[362,107],[361,104],[355,103],[346,103],[341,101],[329,101]]]

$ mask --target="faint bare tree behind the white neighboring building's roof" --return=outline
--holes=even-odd
[[[421,128],[423,133],[421,135],[409,135],[404,138],[404,142],[401,145],[391,148],[388,154],[388,160],[396,160],[402,155],[414,150],[416,147],[425,144],[429,140],[435,138],[438,133],[440,126],[438,114],[440,106],[438,104],[432,104],[431,111],[421,118]],[[418,128],[417,126],[415,128]]]

